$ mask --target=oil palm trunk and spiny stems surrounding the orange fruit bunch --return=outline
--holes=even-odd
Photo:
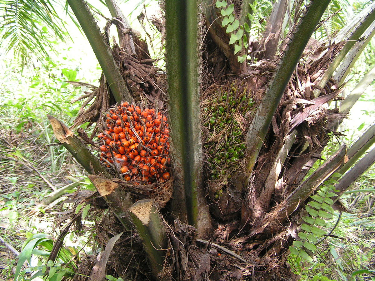
[[[149,191],[160,182],[141,183],[142,193],[139,182],[124,181],[115,165],[105,169],[50,116],[57,139],[90,174],[118,224],[142,238],[154,279],[292,278],[286,255],[294,254],[294,262],[311,260],[324,234],[322,218],[375,160],[371,151],[350,170],[374,143],[372,126],[353,145],[315,164],[375,78],[371,70],[342,95],[350,69],[374,35],[375,4],[318,41],[317,31],[335,28],[326,20],[339,1],[279,0],[267,6],[165,0],[165,16],[154,19],[166,39],[165,74],[114,1],[105,2],[113,18],[101,34],[85,1],[68,0],[103,69],[101,85],[89,95],[95,101],[75,126],[88,120],[103,130],[101,120],[123,101],[167,114],[173,178],[168,202]],[[262,30],[267,7],[272,11]],[[111,47],[112,24],[119,43]],[[86,138],[82,130],[80,136]],[[210,247],[233,261],[220,261]]]

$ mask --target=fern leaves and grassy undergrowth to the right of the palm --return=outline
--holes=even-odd
[[[361,123],[357,128],[345,129],[342,141],[354,142],[354,136],[368,126]],[[338,147],[338,143],[330,142],[322,158],[329,157]],[[319,165],[318,161],[314,167]],[[339,178],[340,174],[334,176]],[[305,225],[290,247],[290,265],[301,280],[375,280],[375,168],[365,172],[340,197],[339,205],[343,207],[332,209],[330,192],[335,183],[326,182],[311,196],[302,218]]]

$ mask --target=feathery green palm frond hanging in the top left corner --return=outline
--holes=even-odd
[[[0,47],[4,52],[13,50],[23,61],[31,55],[48,56],[54,38],[67,36],[55,6],[62,5],[50,0],[0,0]]]

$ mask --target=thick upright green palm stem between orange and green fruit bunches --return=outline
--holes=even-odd
[[[171,155],[174,167],[172,209],[198,233],[211,227],[202,190],[202,142],[199,122],[197,1],[166,0]]]

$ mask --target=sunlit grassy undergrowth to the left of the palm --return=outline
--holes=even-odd
[[[80,102],[71,101],[84,88],[75,89],[66,81],[83,77],[78,68],[69,68],[72,64],[72,60],[68,63],[46,60],[36,68],[23,68],[17,62],[3,66],[4,73],[9,73],[0,84],[3,105],[0,108],[0,279],[3,280],[14,276],[17,262],[20,265],[17,270],[22,267],[22,276],[37,266],[43,269],[44,265],[45,271],[46,259],[60,233],[59,228],[54,228],[51,212],[57,211],[56,204],[61,199],[48,204],[51,203],[48,194],[92,187],[66,149],[53,145],[56,141],[46,117],[54,114],[69,124],[77,115]],[[49,271],[50,277],[56,270],[55,277],[60,272],[60,278],[71,272],[72,259],[81,247],[75,247],[74,233],[68,240],[72,246],[60,253],[59,262],[52,265],[55,269]],[[79,258],[78,254],[75,258]]]

